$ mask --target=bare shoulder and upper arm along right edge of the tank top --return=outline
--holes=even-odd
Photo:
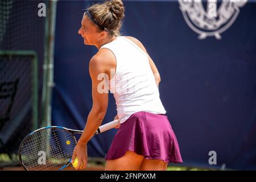
[[[126,36],[126,38],[133,41],[135,44],[137,44],[137,46],[139,48],[141,48],[144,52],[147,53],[146,48],[143,46],[143,44],[138,39],[133,38],[132,36]],[[147,53],[147,55],[148,55],[148,53]],[[155,65],[154,61],[151,59],[150,55],[148,55],[148,61],[150,63],[150,67],[152,69],[152,72],[154,73],[156,85],[159,85],[159,82],[161,81],[160,74],[158,72],[158,69],[156,68],[156,65]]]

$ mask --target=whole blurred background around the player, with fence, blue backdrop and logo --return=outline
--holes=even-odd
[[[0,169],[19,170],[22,139],[39,127],[84,129],[92,108],[89,60],[77,33],[101,1],[0,1]],[[169,170],[256,169],[256,1],[123,1],[122,35],[147,49],[180,146]],[[117,114],[109,94],[102,124]],[[88,144],[102,170],[116,129]],[[79,136],[77,136],[79,137]]]

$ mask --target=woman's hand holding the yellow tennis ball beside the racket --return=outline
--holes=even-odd
[[[78,165],[76,167],[76,170],[84,169],[87,165],[87,160],[88,160],[86,144],[82,144],[79,142],[76,144],[76,147],[74,148],[74,151],[73,151],[71,163],[75,161],[76,157],[78,159]]]

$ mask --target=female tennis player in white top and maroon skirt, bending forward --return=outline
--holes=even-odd
[[[166,170],[169,162],[182,163],[159,98],[158,69],[138,39],[119,35],[124,11],[121,0],[107,1],[90,6],[81,20],[84,44],[98,52],[89,63],[93,106],[72,156],[72,161],[79,159],[77,169],[86,167],[86,143],[105,117],[108,90],[120,126],[106,155],[106,170]]]

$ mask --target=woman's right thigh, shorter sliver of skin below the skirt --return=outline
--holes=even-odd
[[[163,160],[144,159],[139,170],[141,171],[166,171],[168,163]]]

